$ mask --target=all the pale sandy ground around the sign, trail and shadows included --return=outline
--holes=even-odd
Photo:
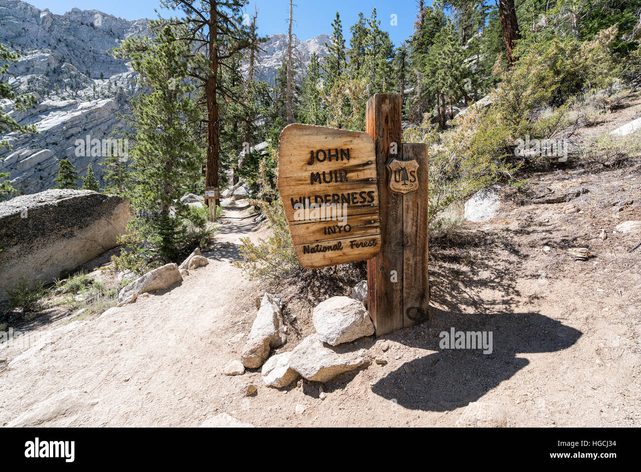
[[[565,203],[505,199],[495,219],[435,238],[429,321],[341,347],[365,348],[383,366],[285,389],[266,387],[258,371],[221,374],[240,358],[238,335],[265,290],[231,263],[239,237],[267,230],[247,208],[228,208],[217,240],[231,246],[204,253],[210,264],[181,285],[107,316],[40,326],[32,339],[47,342],[28,352],[0,348],[0,425],[199,426],[224,412],[256,426],[454,426],[481,401],[510,426],[640,426],[641,248],[628,249],[641,234],[615,226],[641,221],[641,165],[533,183],[588,191],[572,214]],[[613,213],[617,201],[632,203]],[[593,257],[573,260],[575,246]],[[288,321],[293,335],[279,351],[310,333],[305,317],[309,309]],[[440,349],[451,328],[491,331],[493,352]],[[246,397],[248,383],[258,392]]]

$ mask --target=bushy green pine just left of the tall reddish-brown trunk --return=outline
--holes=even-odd
[[[188,217],[179,198],[201,176],[203,153],[195,133],[203,115],[188,81],[196,60],[179,39],[184,29],[158,21],[149,26],[156,37],[129,37],[115,49],[131,60],[143,90],[131,100],[127,117],[136,131],[129,151],[135,178],[131,204],[158,255],[176,262],[185,249],[180,234]]]

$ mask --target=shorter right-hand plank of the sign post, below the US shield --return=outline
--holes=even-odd
[[[403,327],[428,317],[428,145],[403,144],[403,160],[419,163],[419,189],[403,196]]]

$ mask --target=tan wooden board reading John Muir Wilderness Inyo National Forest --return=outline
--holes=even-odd
[[[380,250],[376,153],[367,133],[290,124],[278,142],[278,190],[306,269]]]

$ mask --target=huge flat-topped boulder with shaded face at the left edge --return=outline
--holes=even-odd
[[[116,246],[129,202],[92,190],[46,190],[0,203],[0,293],[49,283]]]

